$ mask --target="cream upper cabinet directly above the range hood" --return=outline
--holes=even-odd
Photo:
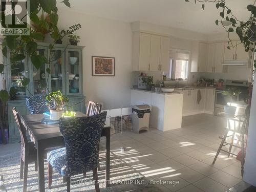
[[[249,53],[245,51],[244,45],[240,41],[234,41],[232,44],[236,47],[225,42],[224,63],[248,63]],[[230,49],[227,49],[227,47]]]

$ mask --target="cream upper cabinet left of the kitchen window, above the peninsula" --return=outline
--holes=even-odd
[[[133,33],[133,70],[168,71],[169,37]]]

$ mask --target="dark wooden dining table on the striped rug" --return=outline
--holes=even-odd
[[[87,116],[76,112],[77,117]],[[41,119],[44,114],[21,115],[20,119],[27,130],[31,141],[37,148],[38,191],[45,191],[45,155],[49,148],[65,147],[65,141],[59,131],[59,124],[45,124]],[[105,137],[105,184],[109,187],[110,181],[110,126],[104,126],[101,137]]]

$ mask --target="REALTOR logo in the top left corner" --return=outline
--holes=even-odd
[[[29,35],[29,0],[1,0],[1,35]]]

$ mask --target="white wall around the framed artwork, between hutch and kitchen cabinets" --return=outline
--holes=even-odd
[[[80,23],[83,50],[83,94],[105,109],[129,106],[131,103],[132,31],[131,24],[80,14],[58,4],[59,29]],[[92,56],[115,57],[115,76],[92,76]]]

